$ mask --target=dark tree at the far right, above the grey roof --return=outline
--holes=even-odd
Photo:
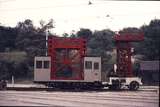
[[[160,55],[160,20],[154,19],[147,26],[142,26],[145,39],[137,48],[145,56],[144,60],[159,60]]]

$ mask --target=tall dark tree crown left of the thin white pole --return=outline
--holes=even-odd
[[[44,25],[41,29],[47,28],[49,24]],[[18,50],[26,51],[30,58],[45,54],[45,31],[37,30],[33,22],[29,19],[19,22],[17,25],[18,35],[16,38],[16,47]],[[43,32],[42,32],[43,31]]]

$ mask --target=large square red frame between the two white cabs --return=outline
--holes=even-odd
[[[51,79],[83,80],[83,57],[85,56],[85,51],[86,41],[83,38],[49,36],[48,56],[51,56]],[[66,72],[66,69],[72,71],[74,76],[58,76]]]

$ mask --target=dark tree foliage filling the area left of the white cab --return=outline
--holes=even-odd
[[[27,59],[21,62],[1,60],[0,71],[7,76],[24,77],[33,72],[34,56],[45,55],[46,31],[53,27],[53,20],[36,28],[30,19],[19,22],[15,28],[0,26],[0,52],[9,48],[12,51],[24,51]],[[20,60],[20,59],[19,59]]]

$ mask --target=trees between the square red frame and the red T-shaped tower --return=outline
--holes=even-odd
[[[102,58],[102,71],[109,71],[115,61],[111,61],[114,43],[114,32],[107,29],[95,31],[87,42],[87,55],[100,56]]]

